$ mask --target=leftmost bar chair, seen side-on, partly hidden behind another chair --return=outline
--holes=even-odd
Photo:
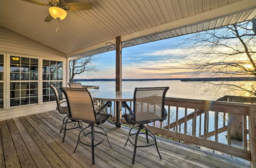
[[[63,134],[63,138],[62,138],[62,143],[63,143],[65,141],[66,130],[80,128],[81,126],[80,126],[80,123],[78,122],[78,127],[67,128],[68,123],[75,122],[75,124],[76,124],[77,121],[71,120],[68,118],[68,116],[69,116],[68,106],[64,105],[64,103],[66,103],[66,101],[62,101],[63,99],[66,99],[66,98],[59,99],[59,94],[58,94],[57,89],[53,85],[49,85],[49,87],[53,90],[54,95],[55,95],[55,99],[56,99],[56,103],[57,103],[56,110],[58,110],[59,113],[61,113],[61,114],[67,114],[67,116],[65,118],[63,118],[61,129],[59,132],[59,133],[61,133],[62,129],[64,130],[64,134]],[[75,126],[75,124],[74,124],[74,126]]]

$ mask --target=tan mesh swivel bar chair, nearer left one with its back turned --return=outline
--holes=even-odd
[[[68,111],[69,115],[68,118],[79,120],[81,122],[89,124],[86,128],[83,128],[82,123],[81,127],[82,130],[79,133],[77,145],[74,150],[74,153],[77,149],[78,144],[89,146],[92,148],[92,163],[94,164],[94,147],[98,146],[99,144],[103,143],[105,139],[108,140],[110,145],[108,135],[103,127],[99,125],[104,124],[106,120],[108,120],[111,115],[108,113],[101,113],[101,111],[111,104],[111,101],[106,102],[100,109],[96,109],[94,107],[93,99],[90,92],[85,88],[60,88],[60,90],[64,93],[67,99]],[[90,132],[86,132],[86,129],[91,127]],[[100,128],[103,132],[95,131],[94,127]],[[97,144],[94,144],[94,133],[99,133],[105,135],[102,141]],[[86,144],[83,142],[82,137],[91,134],[92,143]],[[110,145],[111,147],[111,145]],[[111,147],[112,148],[112,147]]]

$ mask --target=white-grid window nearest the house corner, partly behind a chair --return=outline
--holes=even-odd
[[[59,98],[62,97],[60,87],[62,87],[63,62],[42,60],[42,101],[55,101],[54,92],[49,88],[53,85],[57,88]]]

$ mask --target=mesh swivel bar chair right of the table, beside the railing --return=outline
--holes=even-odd
[[[127,105],[126,102],[122,102],[123,107],[126,107],[129,110],[129,114],[122,115],[122,117],[125,119],[125,121],[128,124],[130,125],[138,124],[138,126],[136,127],[139,127],[136,133],[131,133],[132,129],[136,127],[132,127],[130,129],[127,141],[124,145],[126,146],[127,142],[130,141],[130,143],[134,146],[132,164],[134,164],[136,149],[138,147],[150,147],[150,146],[156,145],[157,152],[159,154],[159,157],[161,158],[161,155],[157,147],[156,136],[150,129],[146,127],[145,124],[151,123],[154,121],[162,122],[167,118],[167,111],[164,108],[164,100],[165,100],[165,95],[168,89],[169,87],[135,88],[134,97],[133,97],[134,110],[132,110],[129,107],[129,105]],[[142,129],[144,129],[145,132],[140,132]],[[147,143],[149,143],[148,136],[152,137],[155,143],[138,146],[137,141],[138,141],[139,134],[146,135]],[[134,143],[131,141],[130,136],[132,135],[136,135]]]

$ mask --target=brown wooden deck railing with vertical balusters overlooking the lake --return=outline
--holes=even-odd
[[[234,98],[243,103],[227,102]],[[251,166],[256,167],[256,105],[252,104],[256,102],[256,98],[242,98],[244,97],[224,96],[218,101],[207,101],[166,97],[167,120],[150,123],[147,127],[155,134],[181,143],[194,144],[249,160]],[[132,106],[133,103],[128,104]],[[120,110],[128,113],[125,108],[121,107]],[[113,116],[114,111],[113,107],[105,109],[105,112]],[[230,129],[236,124],[229,121],[231,115],[242,116],[241,148],[232,146],[230,141]],[[120,121],[124,122],[123,119]],[[219,139],[224,136],[222,133],[226,133],[226,142]]]

